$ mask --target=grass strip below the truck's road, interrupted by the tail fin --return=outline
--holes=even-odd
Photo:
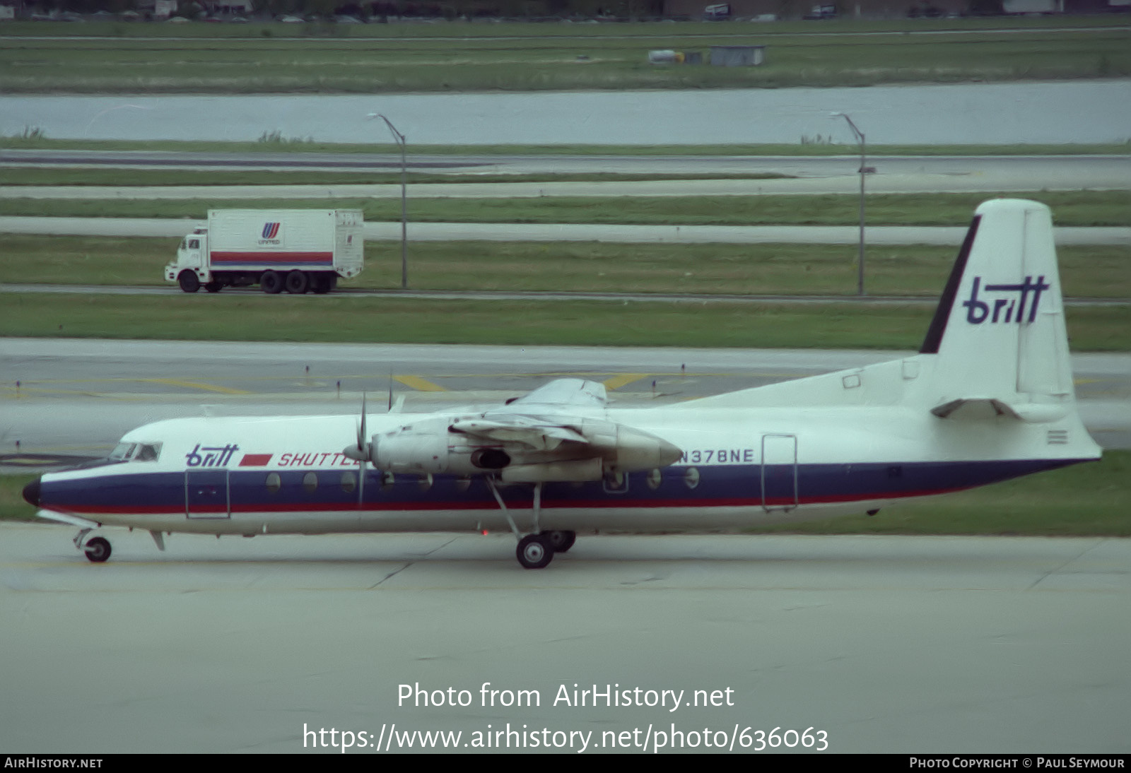
[[[930,304],[0,294],[0,335],[166,340],[917,348]],[[1072,307],[1078,351],[1131,349],[1125,306]],[[233,320],[238,320],[233,322]]]

